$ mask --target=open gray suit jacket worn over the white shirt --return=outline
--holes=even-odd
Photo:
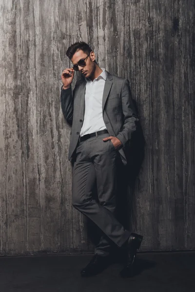
[[[68,159],[74,157],[78,145],[79,133],[84,119],[86,80],[77,81],[72,88],[61,89],[61,109],[66,121],[72,126]],[[125,149],[136,130],[138,117],[133,105],[129,81],[107,72],[102,98],[103,120],[110,136],[122,142],[117,150],[124,165],[127,164]]]

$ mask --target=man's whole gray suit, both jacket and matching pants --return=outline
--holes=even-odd
[[[79,142],[79,133],[84,118],[85,79],[79,80],[74,88],[61,90],[61,108],[64,118],[72,126],[69,156],[74,158],[73,205],[92,219],[102,230],[102,237],[95,251],[105,256],[109,253],[109,239],[121,246],[130,233],[115,218],[116,159],[119,155],[127,163],[125,149],[138,121],[131,98],[129,81],[107,72],[102,112],[107,134]],[[122,142],[116,150],[112,141],[102,138],[115,136]],[[98,200],[93,199],[92,189],[97,182]],[[106,235],[106,236],[105,236]]]

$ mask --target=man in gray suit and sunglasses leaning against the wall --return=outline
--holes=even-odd
[[[66,55],[73,68],[61,74],[61,108],[72,126],[69,160],[74,160],[72,203],[95,222],[102,236],[95,256],[81,271],[82,276],[98,274],[110,260],[112,244],[128,251],[122,277],[132,275],[134,259],[142,236],[124,230],[115,217],[116,162],[125,165],[125,146],[136,130],[137,115],[130,94],[129,81],[108,73],[96,62],[95,53],[85,42],[71,45]],[[72,93],[75,71],[81,78]],[[97,183],[98,201],[93,198]]]

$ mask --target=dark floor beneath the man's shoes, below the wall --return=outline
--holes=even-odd
[[[120,278],[120,263],[80,277],[91,257],[0,257],[0,292],[195,292],[195,252],[138,254],[135,276],[128,279]]]

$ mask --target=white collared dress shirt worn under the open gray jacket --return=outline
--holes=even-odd
[[[102,73],[93,81],[85,78],[85,112],[80,136],[106,129],[102,114],[102,97],[107,73],[101,68]]]

